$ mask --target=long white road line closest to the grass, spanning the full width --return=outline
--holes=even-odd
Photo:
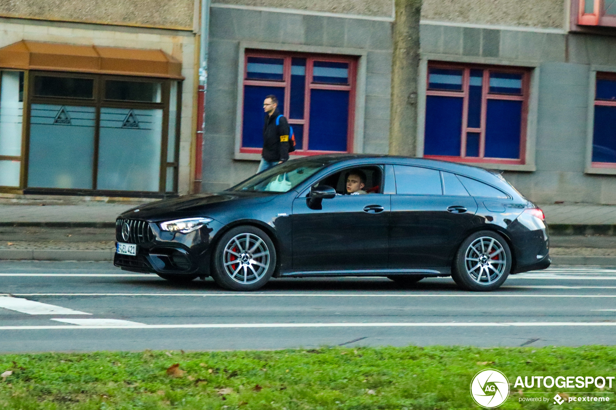
[[[38,329],[223,329],[223,328],[363,328],[363,327],[540,327],[540,326],[616,326],[606,321],[562,322],[402,322],[402,323],[208,323],[198,325],[91,325],[91,326],[0,326],[0,330]]]

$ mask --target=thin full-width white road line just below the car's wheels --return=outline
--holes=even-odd
[[[511,293],[403,293],[403,294],[348,294],[348,293],[11,293],[14,296],[318,296],[322,298],[616,298],[616,294],[511,294]]]

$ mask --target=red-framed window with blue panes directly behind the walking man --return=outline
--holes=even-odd
[[[295,155],[351,152],[355,60],[346,57],[246,52],[240,152],[260,153],[263,100],[273,94],[291,127]]]

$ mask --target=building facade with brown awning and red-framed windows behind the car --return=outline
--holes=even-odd
[[[213,2],[198,147],[199,6],[2,3],[0,192],[226,189],[256,171],[270,94],[291,157],[387,153],[391,0]],[[416,155],[502,170],[540,203],[616,203],[615,7],[424,0]]]

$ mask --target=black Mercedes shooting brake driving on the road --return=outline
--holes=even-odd
[[[349,194],[347,178],[362,189]],[[499,173],[394,156],[289,160],[227,191],[126,211],[116,239],[124,270],[241,291],[270,277],[450,275],[489,291],[550,264],[543,211]]]

